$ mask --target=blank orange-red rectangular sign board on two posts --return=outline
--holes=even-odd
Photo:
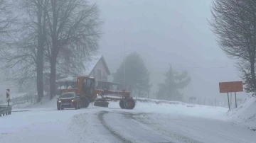
[[[242,81],[220,82],[220,93],[242,92]]]

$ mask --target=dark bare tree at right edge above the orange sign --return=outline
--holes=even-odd
[[[247,85],[247,92],[256,91],[256,1],[215,0],[211,9],[210,26],[220,48],[236,59]]]

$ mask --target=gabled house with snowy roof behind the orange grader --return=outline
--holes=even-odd
[[[95,86],[98,89],[122,90],[122,84],[108,81],[108,76],[110,75],[110,69],[107,67],[107,62],[102,55],[92,57],[89,62],[85,63],[85,71],[79,74],[79,76],[94,76],[96,81]],[[75,86],[75,82],[75,76],[66,76],[56,81],[56,83],[60,84],[60,88],[71,88]]]

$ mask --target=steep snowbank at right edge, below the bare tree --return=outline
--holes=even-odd
[[[248,127],[250,130],[256,130],[256,98],[248,96],[244,103],[233,108],[227,114],[231,122],[236,125]]]

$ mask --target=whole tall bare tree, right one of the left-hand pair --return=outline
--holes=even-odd
[[[97,51],[100,37],[99,10],[85,0],[50,0],[48,46],[50,61],[50,98],[55,96],[56,64],[65,51],[78,63]]]

